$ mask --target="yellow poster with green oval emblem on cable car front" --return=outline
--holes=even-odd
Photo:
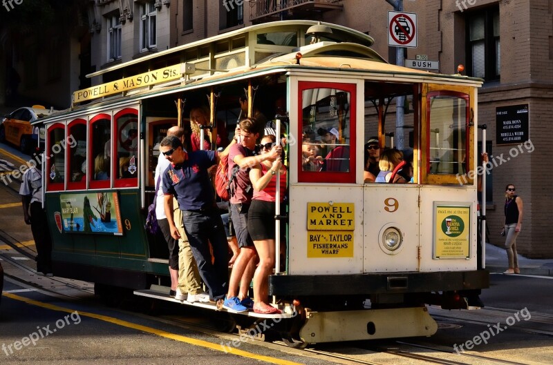
[[[469,259],[471,204],[434,203],[434,259]]]

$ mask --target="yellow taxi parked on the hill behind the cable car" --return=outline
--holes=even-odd
[[[31,108],[24,106],[6,115],[0,122],[0,142],[10,142],[24,153],[32,152],[33,146],[38,147],[39,128],[32,128],[30,124],[54,111],[34,105]]]

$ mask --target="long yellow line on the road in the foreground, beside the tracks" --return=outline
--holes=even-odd
[[[74,313],[75,312],[74,309],[69,309],[69,308],[64,308],[64,307],[60,307],[60,306],[55,306],[53,304],[38,302],[36,300],[28,299],[26,297],[20,297],[19,295],[15,295],[15,294],[12,294],[12,293],[3,293],[2,295],[4,297],[8,297],[10,299],[19,300],[21,302],[25,302],[25,303],[31,304],[33,306],[39,306],[39,307],[47,308],[47,309],[50,309],[50,310],[57,310],[59,312],[66,312],[66,313]],[[151,328],[151,327],[148,327],[148,326],[142,326],[141,324],[135,324],[135,323],[124,321],[122,319],[118,319],[118,318],[114,318],[114,317],[108,317],[106,315],[97,315],[95,313],[81,312],[79,310],[77,310],[77,313],[79,313],[80,316],[100,319],[100,321],[117,324],[118,326],[133,328],[133,329],[138,330],[138,331],[151,333],[152,335],[157,335],[157,336],[160,336],[160,337],[174,339],[175,341],[185,342],[187,344],[191,344],[191,345],[194,345],[194,346],[202,346],[202,347],[214,350],[214,351],[221,351],[221,352],[224,352],[224,353],[232,353],[233,355],[238,355],[238,356],[241,356],[241,357],[247,357],[247,358],[250,358],[250,359],[256,359],[256,360],[259,360],[259,361],[268,362],[270,364],[301,365],[301,363],[299,363],[299,362],[290,362],[290,361],[286,361],[286,360],[277,359],[277,358],[274,358],[274,357],[256,355],[254,353],[249,353],[247,351],[238,350],[238,348],[234,348],[234,347],[230,347],[230,346],[224,346],[225,349],[223,350],[223,346],[221,346],[221,344],[213,344],[212,342],[203,341],[201,339],[194,339],[194,338],[191,338],[191,337],[176,335],[174,333],[158,330],[156,328]]]

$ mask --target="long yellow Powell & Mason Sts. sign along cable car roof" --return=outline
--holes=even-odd
[[[185,63],[179,63],[178,65],[144,72],[143,74],[126,77],[117,81],[102,83],[102,85],[73,92],[73,103],[80,103],[86,100],[117,94],[118,92],[179,79],[183,73],[185,73]]]

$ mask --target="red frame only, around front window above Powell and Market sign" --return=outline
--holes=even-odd
[[[337,171],[303,171],[302,158],[302,141],[303,135],[303,91],[315,88],[328,88],[346,91],[350,93],[350,169],[349,172]],[[319,82],[319,81],[299,81],[298,83],[298,124],[297,136],[299,143],[297,144],[297,168],[298,182],[315,182],[315,183],[355,183],[355,126],[357,114],[357,84],[355,83],[338,83],[338,82]]]

